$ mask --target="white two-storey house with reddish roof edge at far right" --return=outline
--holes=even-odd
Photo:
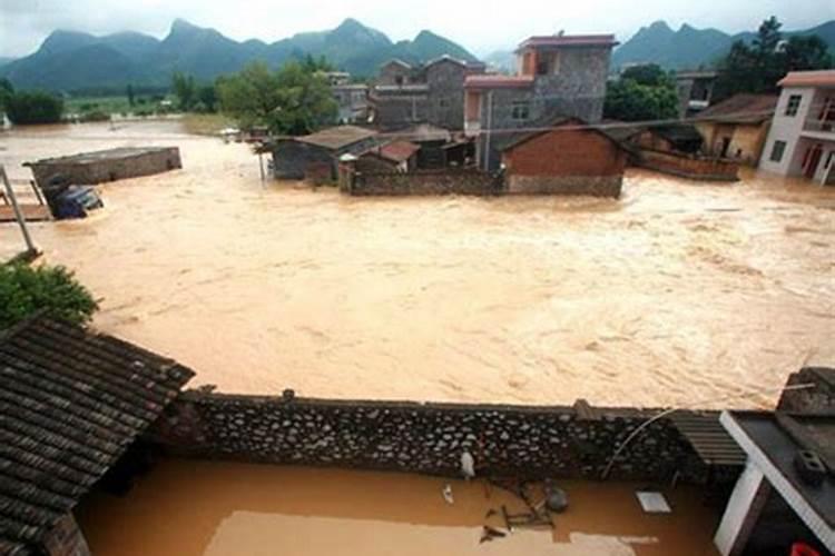
[[[793,71],[778,85],[759,168],[835,185],[835,70]]]

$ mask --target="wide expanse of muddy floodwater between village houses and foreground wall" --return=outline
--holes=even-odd
[[[835,189],[644,171],[620,200],[346,198],[262,185],[244,145],[176,122],[16,130],[0,162],[175,145],[31,227],[101,299],[95,325],[234,393],[524,404],[773,403],[835,363]],[[0,254],[20,248],[0,225]]]

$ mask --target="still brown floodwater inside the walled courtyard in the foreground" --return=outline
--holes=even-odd
[[[100,556],[716,554],[718,515],[695,488],[665,492],[672,513],[647,515],[635,496],[644,485],[560,486],[569,509],[553,532],[518,528],[484,544],[484,525],[504,528],[502,505],[525,506],[481,481],[416,475],[166,460],[127,496],[95,495],[77,515]]]

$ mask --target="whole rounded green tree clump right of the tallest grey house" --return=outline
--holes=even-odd
[[[657,64],[636,66],[609,83],[605,117],[621,121],[666,120],[678,116],[675,80]]]

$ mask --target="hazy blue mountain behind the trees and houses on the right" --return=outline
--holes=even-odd
[[[812,29],[787,31],[784,37],[817,34],[835,52],[835,20]],[[728,34],[717,29],[696,29],[682,24],[674,31],[665,21],[642,27],[612,54],[612,67],[657,63],[667,69],[708,67],[721,58],[737,40],[750,42],[754,32]]]

